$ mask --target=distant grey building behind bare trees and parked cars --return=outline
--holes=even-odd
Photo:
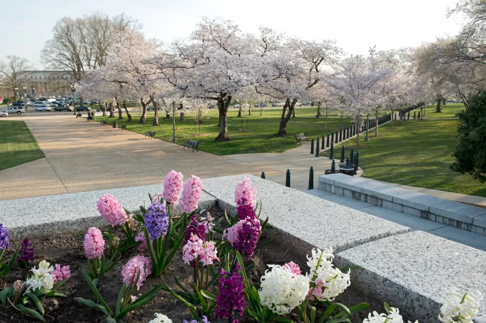
[[[25,71],[24,83],[27,95],[56,96],[71,93],[71,84],[76,81],[64,71]]]

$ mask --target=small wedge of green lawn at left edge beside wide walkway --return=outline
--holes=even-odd
[[[0,170],[44,157],[23,121],[0,121]]]

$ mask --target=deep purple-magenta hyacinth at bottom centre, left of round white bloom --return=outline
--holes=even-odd
[[[216,306],[214,313],[219,320],[224,317],[231,317],[232,323],[237,323],[245,311],[245,291],[243,286],[243,276],[239,274],[241,267],[236,263],[232,272],[221,269],[218,295],[216,296]],[[233,318],[236,313],[236,319]]]

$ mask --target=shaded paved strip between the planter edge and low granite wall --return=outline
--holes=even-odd
[[[443,225],[437,222],[432,222],[409,214],[385,209],[381,206],[357,201],[344,197],[342,195],[335,195],[323,190],[304,191],[305,193],[320,197],[323,200],[331,201],[350,207],[361,212],[365,212],[382,219],[395,222],[404,226],[408,226],[412,231],[421,230],[429,234],[442,237],[444,239],[453,240],[476,249],[486,251],[486,239],[484,236],[458,229],[448,225]]]

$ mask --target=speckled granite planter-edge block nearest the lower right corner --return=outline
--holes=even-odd
[[[335,255],[337,266],[358,265],[351,285],[398,307],[411,321],[436,322],[451,286],[486,291],[486,252],[422,231],[355,246]],[[486,299],[479,317],[486,318]]]

